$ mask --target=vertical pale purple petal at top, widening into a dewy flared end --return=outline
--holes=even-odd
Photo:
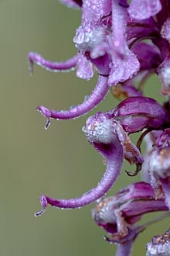
[[[132,78],[139,70],[140,64],[126,41],[127,9],[112,1],[112,35],[108,36],[112,64],[110,64],[109,84],[117,85]]]

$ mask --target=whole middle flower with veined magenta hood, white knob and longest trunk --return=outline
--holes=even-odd
[[[143,157],[134,144],[129,133],[136,133],[145,128],[157,129],[167,121],[166,111],[153,99],[132,97],[125,99],[115,109],[97,112],[87,119],[83,131],[87,140],[107,160],[107,169],[97,187],[76,199],[53,199],[41,195],[41,215],[48,204],[59,208],[79,208],[100,199],[111,188],[121,172],[123,157],[141,167]],[[139,171],[140,168],[137,168]]]

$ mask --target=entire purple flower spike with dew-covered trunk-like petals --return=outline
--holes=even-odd
[[[52,62],[30,52],[30,72],[34,64],[54,72],[76,69],[76,76],[88,81],[96,70],[98,81],[78,106],[67,110],[38,106],[46,117],[46,128],[51,118],[74,119],[90,112],[109,90],[123,101],[114,109],[90,116],[83,127],[87,140],[106,162],[106,171],[97,186],[75,199],[41,195],[42,210],[35,216],[42,215],[48,204],[73,209],[100,200],[93,209],[93,219],[110,234],[106,240],[118,244],[117,256],[128,256],[134,240],[148,225],[137,226],[138,220],[145,213],[170,209],[170,2],[61,2],[82,12],[81,24],[73,37],[77,53],[66,61]],[[144,96],[145,81],[151,74],[158,75],[165,96],[163,105]],[[136,145],[131,142],[131,133],[141,133]],[[144,156],[141,154],[143,139]],[[138,175],[141,170],[145,182],[128,185],[116,195],[101,200],[120,175],[124,159],[136,165],[134,173],[126,171],[128,175]],[[154,255],[155,247],[159,253],[162,246],[170,254],[169,244],[168,247],[162,244],[159,246],[153,239],[147,246],[147,255]]]

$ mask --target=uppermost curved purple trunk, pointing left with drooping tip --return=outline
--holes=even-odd
[[[63,62],[52,62],[44,59],[40,54],[30,52],[29,53],[29,71],[32,73],[33,64],[37,64],[40,67],[46,68],[48,71],[59,72],[59,71],[72,71],[79,60],[80,54],[71,57],[67,61]]]

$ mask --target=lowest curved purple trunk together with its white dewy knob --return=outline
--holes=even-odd
[[[111,188],[121,172],[123,164],[123,149],[117,135],[111,133],[114,124],[110,120],[103,119],[104,116],[94,116],[87,122],[87,137],[99,153],[107,160],[107,169],[97,187],[75,199],[53,199],[46,195],[41,195],[40,202],[42,211],[36,213],[41,215],[46,209],[47,204],[59,208],[74,209],[87,206],[91,202],[100,199]],[[94,129],[94,130],[93,130]],[[108,130],[110,133],[108,133]],[[101,134],[103,131],[103,136]],[[104,143],[105,142],[105,143]]]

